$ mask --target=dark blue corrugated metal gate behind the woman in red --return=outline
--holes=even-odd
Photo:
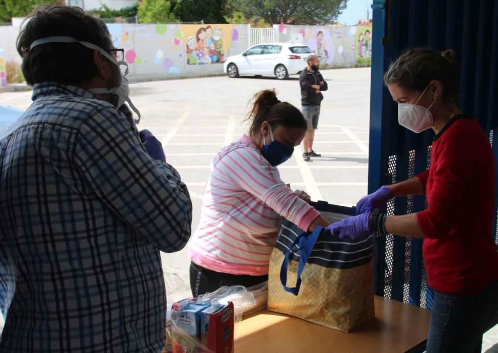
[[[498,1],[374,0],[373,3],[369,193],[381,185],[412,177],[431,162],[433,133],[416,135],[400,127],[397,105],[383,86],[389,64],[408,48],[426,46],[457,51],[461,66],[460,108],[478,117],[489,133],[498,160],[498,138],[494,138],[498,134]],[[388,205],[388,213],[405,214],[424,208],[423,197],[400,198]],[[495,234],[498,242],[496,225]],[[388,236],[377,241],[375,254],[378,295],[432,307],[421,240]]]

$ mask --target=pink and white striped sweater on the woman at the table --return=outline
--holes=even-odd
[[[308,229],[318,216],[244,136],[211,162],[190,258],[212,271],[264,275],[283,218]]]

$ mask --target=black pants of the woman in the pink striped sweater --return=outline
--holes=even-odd
[[[243,285],[250,287],[268,280],[268,275],[249,276],[211,271],[190,263],[190,289],[192,295],[198,297],[212,292],[224,285]]]

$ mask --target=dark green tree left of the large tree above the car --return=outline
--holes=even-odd
[[[227,0],[177,0],[174,12],[182,22],[226,23]]]

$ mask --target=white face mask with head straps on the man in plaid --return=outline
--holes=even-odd
[[[83,46],[86,46],[87,48],[90,49],[96,49],[99,50],[102,55],[107,57],[111,63],[116,65],[118,69],[120,69],[121,65],[124,65],[126,67],[124,74],[121,74],[121,84],[117,87],[113,88],[92,88],[89,89],[88,92],[93,93],[93,94],[99,94],[99,93],[111,93],[114,94],[118,97],[118,102],[117,102],[117,108],[121,107],[125,102],[127,102],[130,106],[130,108],[138,115],[138,119],[135,119],[135,124],[138,124],[140,122],[140,112],[138,109],[133,105],[131,102],[131,99],[129,98],[130,94],[130,89],[128,86],[128,79],[126,78],[126,75],[128,75],[128,64],[124,61],[118,62],[114,57],[112,57],[108,52],[106,52],[104,49],[99,47],[98,45],[89,43],[89,42],[84,42],[80,41],[76,38],[73,37],[64,37],[64,36],[53,36],[53,37],[45,37],[45,38],[40,38],[35,40],[33,43],[31,43],[31,46],[29,47],[30,50],[40,44],[45,44],[45,43],[80,43]]]

